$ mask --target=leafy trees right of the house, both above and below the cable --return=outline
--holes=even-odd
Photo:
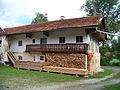
[[[104,16],[106,30],[120,33],[120,0],[86,0],[81,10],[87,12],[87,16]],[[100,47],[100,53],[102,65],[109,65],[113,58],[120,60],[120,38],[114,40],[113,36],[109,36]]]

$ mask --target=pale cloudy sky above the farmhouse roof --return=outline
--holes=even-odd
[[[14,27],[30,24],[35,13],[47,13],[49,21],[60,16],[78,18],[85,16],[80,7],[85,0],[0,0],[0,27]]]

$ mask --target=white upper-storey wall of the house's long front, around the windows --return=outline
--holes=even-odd
[[[32,38],[26,38],[25,34],[12,35],[8,38],[10,51],[25,52],[26,45],[33,44],[33,39],[35,39],[35,44],[40,44],[40,38],[47,38],[47,44],[59,44],[59,37],[65,37],[66,43],[76,43],[76,36],[83,36],[83,43],[88,43],[89,41],[89,37],[84,30],[50,31],[48,37],[43,35],[42,32],[36,32],[32,33]],[[22,46],[18,46],[18,41],[22,41]]]

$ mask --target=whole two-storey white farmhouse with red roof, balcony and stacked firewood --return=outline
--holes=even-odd
[[[99,42],[106,40],[104,17],[89,16],[0,29],[1,61],[49,72],[99,72]]]

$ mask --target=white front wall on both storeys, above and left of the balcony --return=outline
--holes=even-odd
[[[34,44],[40,44],[40,38],[47,38],[47,44],[59,44],[59,37],[65,37],[65,43],[76,43],[76,36],[83,36],[83,43],[89,43],[90,41],[89,35],[86,35],[85,30],[82,29],[49,31],[48,37],[43,35],[43,32],[36,32],[32,33],[31,38],[26,38],[26,34],[11,35],[7,38],[10,46],[10,51],[16,55],[17,59],[19,56],[22,56],[23,60],[31,61],[33,56],[35,56],[35,61],[39,61],[39,57],[42,55],[42,53],[25,52],[26,45],[33,44],[33,39],[35,39]],[[22,41],[22,46],[18,46],[18,41]]]

